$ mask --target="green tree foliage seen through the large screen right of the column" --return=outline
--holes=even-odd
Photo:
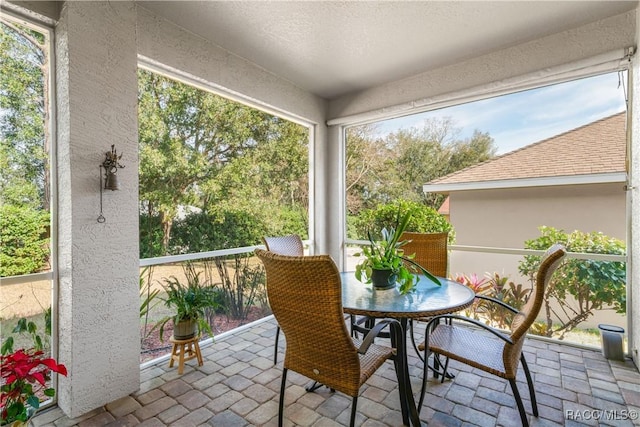
[[[286,216],[282,211],[305,212],[306,218],[303,126],[144,70],[139,117],[140,213],[148,218],[141,221],[141,253],[169,253],[174,222],[189,210],[263,210],[276,219]]]

